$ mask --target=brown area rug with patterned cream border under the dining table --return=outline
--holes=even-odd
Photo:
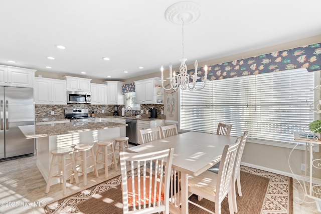
[[[130,176],[130,175],[129,175]],[[241,166],[243,196],[237,196],[239,214],[293,214],[292,178]],[[121,177],[117,176],[69,197],[46,205],[46,213],[122,213]],[[206,199],[193,200],[214,211],[214,203]],[[208,213],[189,204],[189,213]],[[222,202],[222,214],[229,213],[227,198]]]

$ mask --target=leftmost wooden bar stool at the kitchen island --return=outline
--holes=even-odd
[[[77,175],[76,170],[76,164],[75,164],[75,157],[74,157],[74,148],[68,147],[68,148],[59,148],[51,151],[52,159],[49,169],[49,176],[47,181],[47,187],[46,187],[46,193],[49,192],[50,189],[50,182],[52,177],[56,177],[60,179],[60,182],[62,183],[62,192],[63,194],[66,194],[66,180],[70,177],[70,183],[73,182],[74,176],[76,179],[76,183],[79,184],[79,179]],[[69,158],[67,157],[69,155]],[[67,163],[67,161],[69,163]],[[58,165],[59,171],[57,174],[53,174],[53,168]],[[71,169],[67,169],[69,165],[72,165]],[[72,173],[67,176],[67,171],[72,171]]]

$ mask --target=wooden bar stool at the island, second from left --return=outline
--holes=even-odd
[[[84,176],[84,186],[87,185],[87,169],[94,167],[95,175],[96,177],[98,177],[94,151],[92,149],[93,146],[94,144],[79,144],[75,146],[75,150],[78,152],[78,154],[76,154],[76,157],[75,157],[75,163],[76,163],[76,167],[82,166],[82,171],[78,171],[78,172],[81,172]],[[90,152],[90,155],[87,156],[87,152]],[[92,163],[93,163],[90,166],[87,165],[87,158],[89,157],[92,158]],[[77,161],[81,161],[82,163],[77,165]]]

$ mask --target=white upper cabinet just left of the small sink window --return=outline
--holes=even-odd
[[[119,81],[105,81],[107,84],[107,103],[109,105],[124,105],[125,99],[122,94],[122,84]]]

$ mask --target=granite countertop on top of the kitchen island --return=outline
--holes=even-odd
[[[47,137],[60,134],[78,133],[91,130],[116,128],[127,126],[127,124],[113,123],[113,122],[95,122],[95,123],[81,123],[75,124],[71,122],[67,123],[53,123],[42,125],[26,125],[19,126],[22,133],[27,139]]]

